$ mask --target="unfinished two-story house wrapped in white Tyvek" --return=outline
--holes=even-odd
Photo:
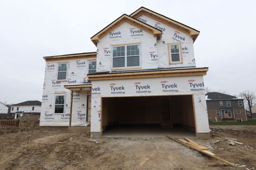
[[[93,27],[91,25],[91,27]],[[93,33],[93,32],[92,32]],[[97,52],[46,56],[40,126],[183,126],[209,138],[199,31],[145,7],[91,37]]]

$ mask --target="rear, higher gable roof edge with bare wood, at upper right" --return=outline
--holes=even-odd
[[[141,6],[137,11],[133,12],[130,16],[137,19],[142,14],[148,16],[149,18],[152,18],[159,22],[162,22],[166,25],[169,25],[170,27],[177,29],[183,33],[186,33],[187,35],[191,36],[194,41],[196,40],[196,38],[199,35],[200,31],[198,31],[194,28],[188,27],[187,25],[180,23],[178,21],[172,20],[172,19],[168,18],[167,16],[159,14],[155,11],[151,11],[148,8],[143,7],[143,6]]]

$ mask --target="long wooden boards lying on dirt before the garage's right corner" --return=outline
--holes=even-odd
[[[175,138],[170,137],[170,136],[166,136],[166,137],[171,139],[171,140],[174,140],[175,142],[181,143],[182,145],[185,145],[186,147],[197,150],[197,151],[199,151],[199,152],[201,152],[201,153],[203,153],[207,156],[210,156],[212,158],[220,160],[221,162],[226,163],[228,166],[233,166],[233,167],[239,166],[239,165],[230,163],[225,159],[221,159],[221,158],[217,157],[215,154],[213,154],[213,152],[209,151],[208,148],[198,145],[196,142],[192,141],[191,139],[187,140],[187,138],[186,139],[175,139]]]

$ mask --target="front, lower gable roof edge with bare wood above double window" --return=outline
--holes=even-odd
[[[97,46],[98,41],[106,35],[106,33],[116,29],[119,25],[123,24],[124,22],[132,24],[134,27],[138,27],[141,30],[144,30],[151,35],[156,35],[157,39],[160,39],[162,36],[162,31],[158,30],[151,25],[148,25],[144,22],[141,22],[137,19],[132,18],[129,15],[123,14],[115,21],[111,22],[107,27],[103,28],[101,31],[96,33],[94,36],[91,37],[92,42]]]

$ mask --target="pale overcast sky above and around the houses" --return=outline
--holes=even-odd
[[[200,32],[197,67],[205,86],[256,93],[255,1],[0,0],[0,101],[40,100],[43,56],[94,52],[90,37],[123,13],[145,6]]]

